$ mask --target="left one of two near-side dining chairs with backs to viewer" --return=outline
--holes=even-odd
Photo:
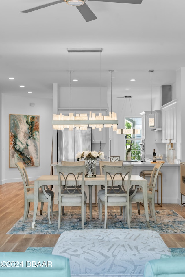
[[[82,229],[86,222],[86,202],[87,196],[84,192],[85,165],[62,166],[56,165],[58,173],[58,229],[61,222],[61,207],[78,206],[81,207]],[[62,184],[64,182],[65,185]],[[72,188],[73,185],[73,188]]]

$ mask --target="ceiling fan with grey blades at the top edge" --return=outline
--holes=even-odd
[[[141,4],[141,2],[143,0],[58,0],[58,1],[54,1],[54,2],[51,2],[51,3],[45,4],[45,5],[40,5],[40,6],[35,7],[35,8],[24,10],[24,11],[21,11],[21,12],[32,12],[32,11],[39,10],[39,9],[42,9],[42,8],[45,8],[45,7],[48,7],[48,6],[52,6],[52,5],[55,5],[55,4],[58,4],[58,3],[66,2],[70,6],[77,7],[79,12],[82,14],[83,18],[86,20],[86,22],[97,19],[97,17],[90,10],[88,5],[86,5],[86,3],[85,3],[86,1]]]

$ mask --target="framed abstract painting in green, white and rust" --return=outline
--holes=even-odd
[[[39,166],[39,116],[9,114],[9,167]]]

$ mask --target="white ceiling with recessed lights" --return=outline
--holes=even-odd
[[[120,87],[119,96],[148,98],[148,70],[154,70],[155,92],[175,83],[176,70],[185,66],[184,0],[143,0],[140,5],[88,1],[97,16],[90,22],[66,3],[20,13],[50,2],[1,0],[1,93],[52,98],[53,83],[69,86],[69,69],[79,80],[72,86],[110,87],[108,71],[114,70],[112,93]],[[69,54],[67,48],[103,48],[103,52]]]

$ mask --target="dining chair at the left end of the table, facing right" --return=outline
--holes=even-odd
[[[15,165],[17,166],[18,170],[21,173],[21,177],[23,180],[23,186],[24,186],[24,215],[23,215],[23,222],[24,222],[25,218],[28,217],[30,202],[34,202],[34,185],[30,185],[27,171],[26,171],[23,163],[18,162]],[[38,195],[38,202],[41,202],[40,215],[42,215],[44,203],[47,202],[48,203],[47,212],[48,212],[49,224],[51,224],[50,210],[51,210],[51,216],[53,217],[53,197],[54,197],[54,193],[52,190],[49,190],[48,186],[40,187],[39,195]]]

